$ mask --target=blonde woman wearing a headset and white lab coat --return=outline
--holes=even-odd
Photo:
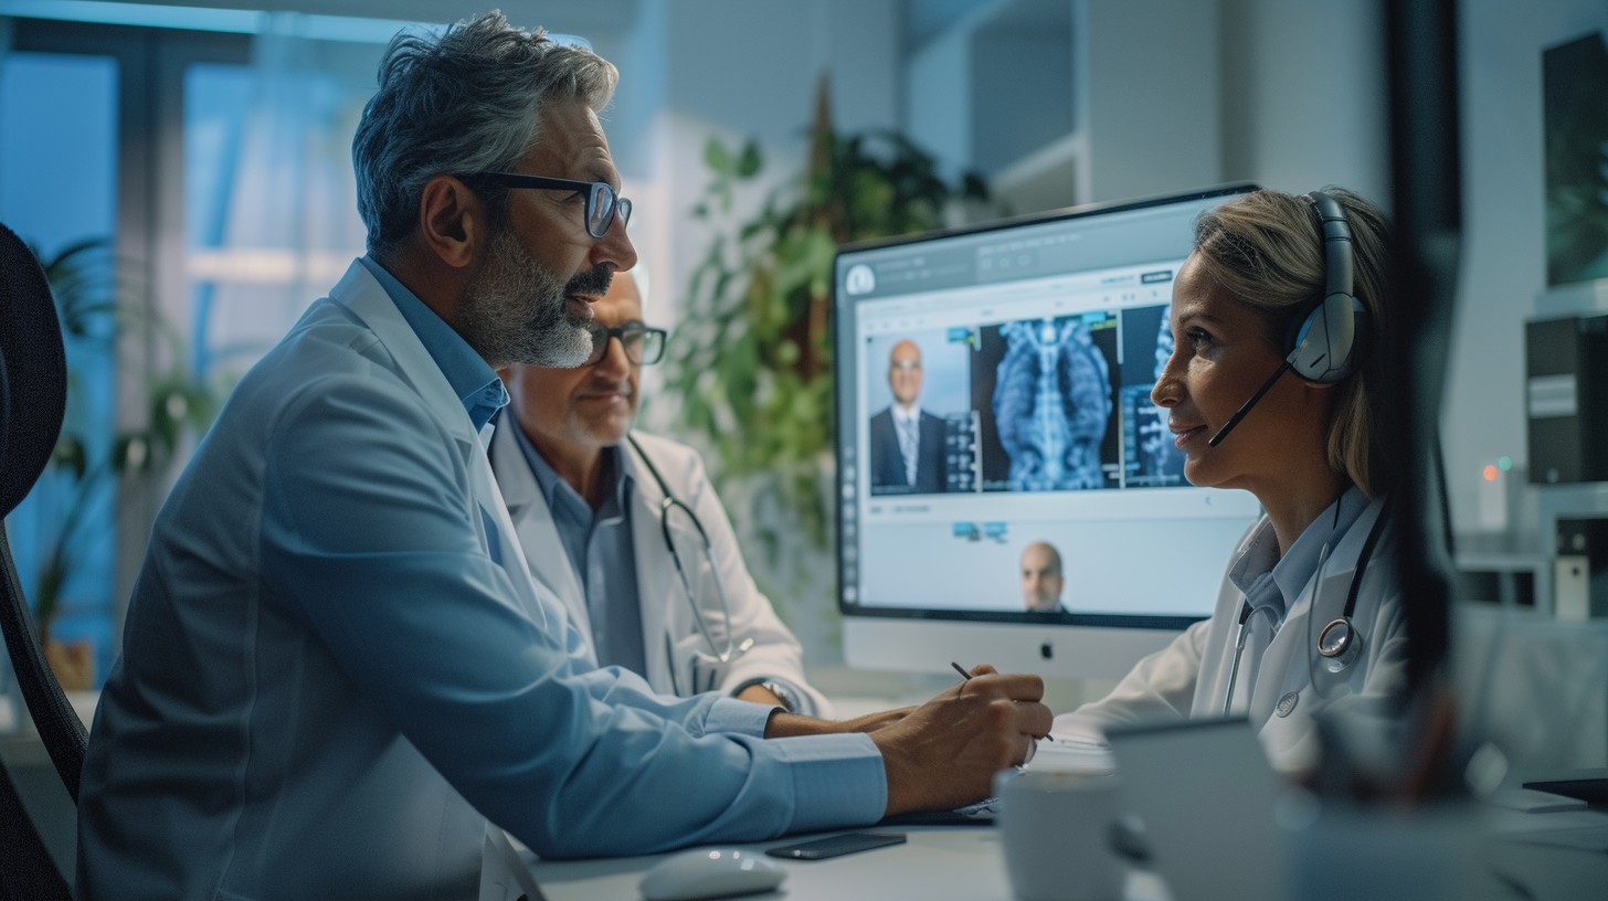
[[[1394,397],[1375,352],[1389,327],[1386,228],[1339,188],[1254,191],[1196,222],[1151,397],[1185,478],[1249,491],[1264,516],[1229,560],[1212,616],[1056,718],[1056,737],[1248,716],[1294,771],[1315,761],[1315,713],[1391,722],[1405,637],[1375,434]]]

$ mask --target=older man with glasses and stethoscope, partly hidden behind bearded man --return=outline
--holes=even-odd
[[[698,454],[632,434],[642,365],[666,333],[642,322],[635,278],[593,304],[580,368],[516,367],[492,471],[532,574],[580,631],[584,653],[659,692],[720,690],[825,716],[799,642],[743,565]]]

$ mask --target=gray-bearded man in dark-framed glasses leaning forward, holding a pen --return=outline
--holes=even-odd
[[[80,898],[513,896],[544,856],[984,796],[1050,724],[979,666],[828,722],[589,664],[486,459],[494,368],[579,365],[637,254],[614,68],[498,13],[386,51],[368,254],[240,383],[154,525],[79,804]]]

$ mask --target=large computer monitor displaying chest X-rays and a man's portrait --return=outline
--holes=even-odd
[[[838,253],[851,666],[1116,679],[1211,615],[1259,507],[1183,479],[1150,389],[1195,219],[1249,190]]]

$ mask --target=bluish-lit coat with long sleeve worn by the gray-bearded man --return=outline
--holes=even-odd
[[[867,735],[765,740],[764,706],[584,663],[481,526],[508,521],[461,393],[489,383],[449,383],[461,339],[433,354],[405,306],[354,262],[158,515],[90,730],[79,895],[474,898],[487,819],[544,856],[876,821]]]

